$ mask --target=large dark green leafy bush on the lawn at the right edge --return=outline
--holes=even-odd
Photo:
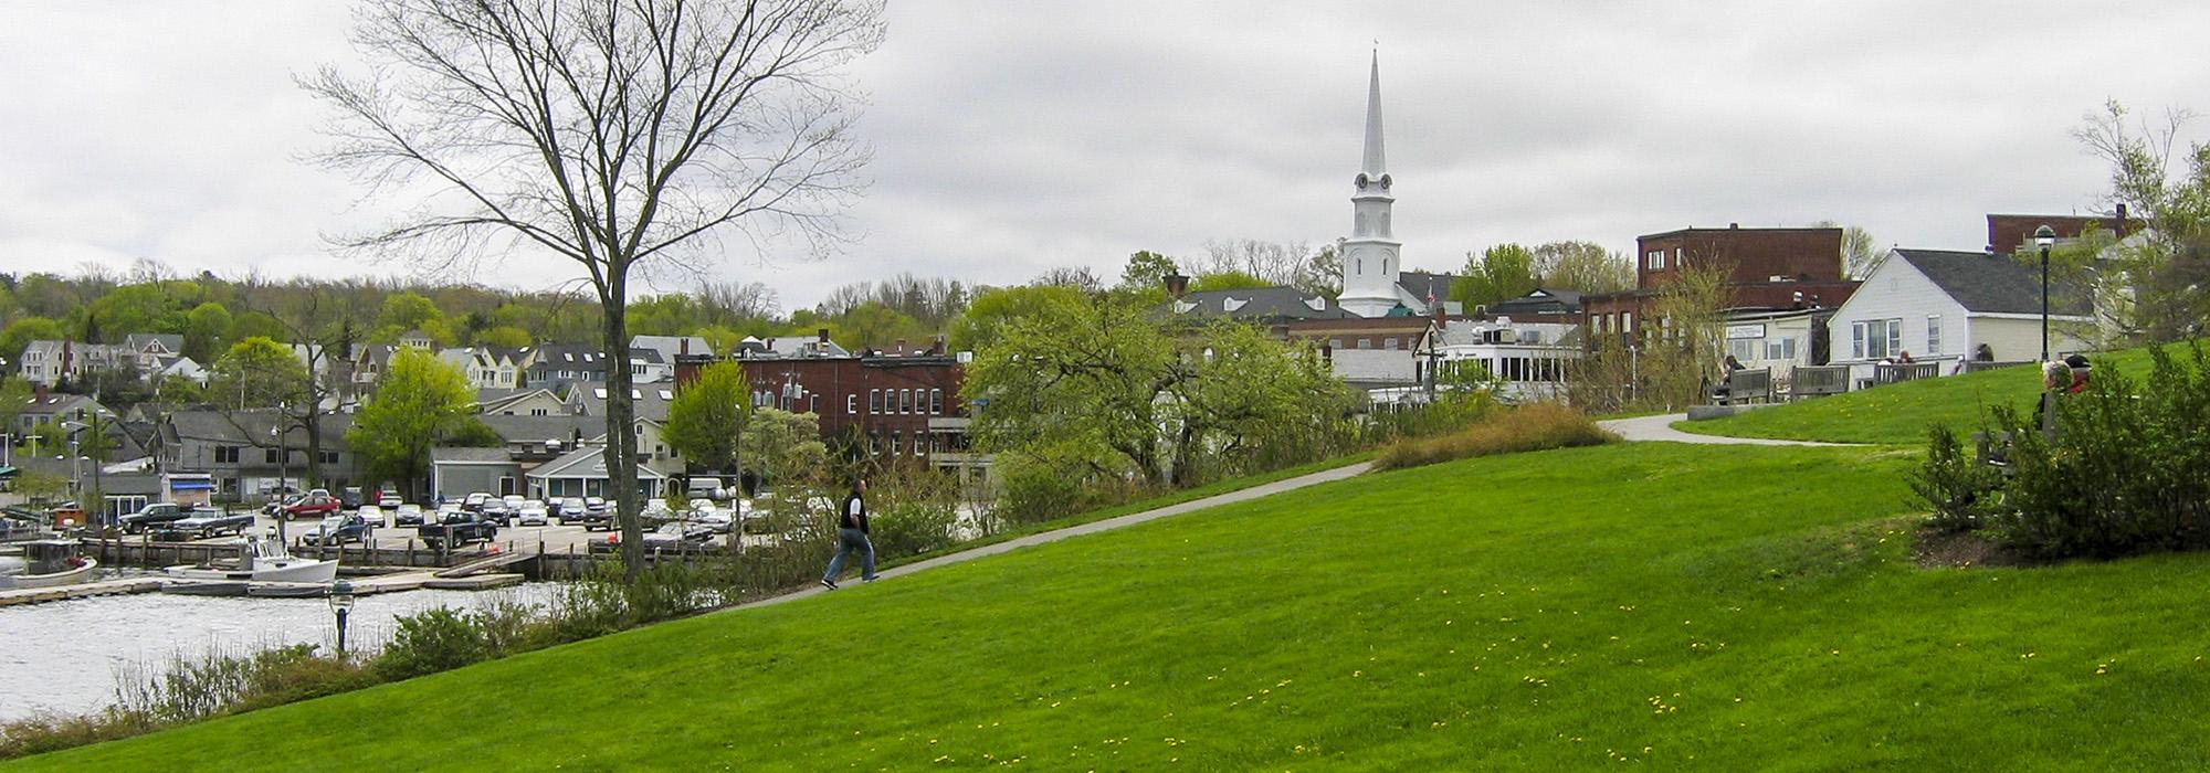
[[[1998,406],[2013,446],[1993,532],[2042,559],[2210,548],[2210,358],[2190,351],[2181,364],[2153,349],[2146,384],[2097,364],[2086,391],[2053,400],[2053,435]]]

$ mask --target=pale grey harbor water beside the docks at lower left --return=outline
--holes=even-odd
[[[557,587],[528,583],[486,592],[360,596],[349,614],[347,647],[362,652],[380,645],[404,614],[440,605],[539,603],[552,599]],[[115,702],[117,678],[152,674],[175,656],[197,660],[301,643],[332,647],[336,629],[327,599],[135,594],[0,607],[0,722],[44,711],[97,711]]]

